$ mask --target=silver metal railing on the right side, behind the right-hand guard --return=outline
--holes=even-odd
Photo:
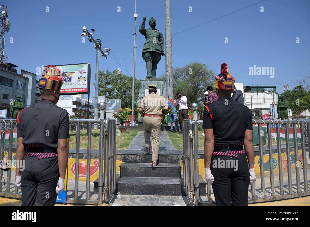
[[[184,120],[183,120],[184,122]],[[195,121],[194,121],[195,122]],[[202,123],[202,120],[198,121]],[[249,190],[251,197],[249,198],[249,202],[266,202],[266,201],[275,201],[281,199],[289,199],[289,198],[296,198],[302,197],[306,195],[310,195],[309,187],[308,187],[308,175],[307,175],[307,158],[306,158],[306,146],[305,140],[310,141],[310,120],[309,119],[301,119],[301,120],[261,120],[261,119],[253,119],[253,124],[258,125],[258,139],[259,139],[259,166],[260,166],[260,189],[255,189],[255,184],[251,186]],[[268,150],[263,149],[263,130],[262,124],[267,125],[267,136],[268,136]],[[272,144],[272,125],[276,127],[276,144]],[[284,126],[285,131],[285,145],[281,146],[281,132],[280,132],[280,125]],[[290,146],[290,134],[289,134],[289,127],[292,127],[293,131],[293,146]],[[297,135],[297,126],[300,126],[300,143],[298,143],[298,135]],[[223,132],[224,133],[224,132]],[[193,130],[194,140],[197,137],[198,131],[196,127]],[[292,137],[292,136],[291,136]],[[306,138],[307,137],[307,138]],[[282,135],[283,138],[283,135]],[[184,140],[184,135],[183,135]],[[283,139],[282,139],[283,140]],[[183,147],[185,150],[188,150],[186,146]],[[299,149],[301,148],[301,149]],[[286,149],[286,161],[287,161],[287,184],[284,185],[283,181],[283,168],[282,168],[282,149]],[[273,160],[273,150],[277,150],[277,163],[278,163],[278,172],[279,172],[279,181],[277,182],[277,194],[275,195],[275,174],[274,174],[274,163]],[[298,150],[301,150],[302,158],[299,158]],[[291,152],[294,154],[294,161],[291,160]],[[194,147],[194,154],[196,153]],[[264,170],[264,159],[263,156],[268,155],[269,161],[269,170]],[[309,151],[310,156],[310,151]],[[302,159],[302,161],[300,161]],[[300,170],[300,164],[302,164],[302,172]],[[293,184],[292,179],[292,169],[291,165],[295,166],[295,178],[294,181],[296,184]],[[196,165],[195,165],[196,169]],[[270,178],[270,186],[266,187],[266,179],[265,179],[265,172],[269,172]],[[303,173],[303,183],[300,182],[300,174]],[[258,177],[258,176],[257,176]],[[303,190],[301,189],[303,187]],[[211,202],[211,190],[210,185],[208,184],[207,189],[207,201]],[[266,193],[267,189],[270,189],[270,193]],[[294,190],[293,190],[294,189]],[[266,195],[267,194],[267,195]],[[196,199],[195,199],[196,200]],[[216,201],[215,201],[216,202]]]

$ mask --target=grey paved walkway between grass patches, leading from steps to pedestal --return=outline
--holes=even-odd
[[[175,150],[169,136],[166,131],[160,131],[159,138],[159,150]],[[151,138],[152,143],[152,138]],[[131,144],[128,147],[128,150],[145,150],[145,140],[144,140],[144,131],[139,131],[135,138],[131,141]],[[152,145],[151,145],[152,150]]]

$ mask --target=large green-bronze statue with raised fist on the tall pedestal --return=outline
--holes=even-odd
[[[156,77],[157,64],[164,54],[164,36],[162,32],[155,28],[156,20],[151,17],[148,20],[148,25],[151,28],[144,28],[146,17],[140,24],[139,32],[145,36],[145,43],[142,49],[142,58],[146,62],[147,79]]]

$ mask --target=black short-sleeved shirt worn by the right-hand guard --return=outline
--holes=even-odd
[[[244,133],[252,130],[252,112],[231,96],[220,96],[208,105],[213,121],[206,107],[203,111],[203,128],[213,128],[214,144],[239,144],[244,141]]]

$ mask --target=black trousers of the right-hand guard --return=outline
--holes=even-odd
[[[214,177],[212,188],[217,206],[248,205],[250,173],[245,154],[212,156],[210,170]]]

